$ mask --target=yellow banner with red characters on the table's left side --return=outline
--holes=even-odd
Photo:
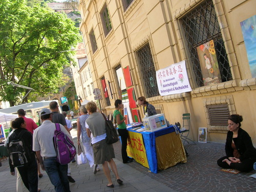
[[[134,158],[138,163],[143,166],[150,168],[148,166],[146,158],[146,150],[142,139],[142,134],[136,132],[129,132],[128,142],[127,142],[127,155]]]

